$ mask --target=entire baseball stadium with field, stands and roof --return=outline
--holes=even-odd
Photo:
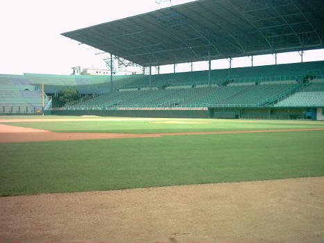
[[[0,242],[323,242],[323,12],[191,1],[62,33],[104,75],[0,74]]]

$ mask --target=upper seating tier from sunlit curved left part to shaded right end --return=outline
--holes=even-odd
[[[324,62],[304,62],[284,65],[268,65],[260,67],[239,67],[235,69],[216,69],[211,71],[211,84],[221,85],[225,81],[231,84],[254,83],[268,84],[282,81],[296,83],[305,75],[321,74],[323,78]],[[53,74],[24,74],[31,84],[44,83],[46,92],[56,93],[60,89],[72,87],[80,94],[103,94],[110,92],[110,76],[72,76]],[[151,87],[183,88],[196,85],[203,87],[208,84],[208,71],[182,72],[176,74],[160,74],[151,76]],[[169,86],[169,87],[168,87]],[[148,89],[150,77],[148,75],[113,76],[113,90]]]

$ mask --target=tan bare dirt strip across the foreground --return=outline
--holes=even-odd
[[[323,177],[0,198],[0,242],[323,242]]]

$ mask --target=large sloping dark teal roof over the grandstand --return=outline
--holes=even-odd
[[[142,66],[323,48],[323,0],[200,0],[66,37]]]

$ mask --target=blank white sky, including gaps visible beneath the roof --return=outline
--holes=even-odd
[[[173,0],[172,3],[176,5],[189,1]],[[0,74],[71,74],[71,67],[77,66],[81,69],[104,69],[106,54],[60,34],[164,6],[169,5],[158,5],[155,0],[1,0]],[[300,59],[298,53],[291,55],[290,60]],[[323,60],[323,57],[324,50],[321,49],[313,53],[305,52],[304,60]],[[254,64],[257,59],[254,58]],[[271,55],[261,59],[260,63],[274,64]],[[287,58],[282,58],[280,62],[287,62]],[[194,63],[194,71],[205,69],[206,65],[207,62]],[[250,65],[250,59],[232,61],[232,67],[241,65]],[[226,60],[212,61],[212,68],[228,66]],[[176,72],[189,69],[189,64],[176,66]],[[161,71],[173,72],[173,66],[162,67]]]

